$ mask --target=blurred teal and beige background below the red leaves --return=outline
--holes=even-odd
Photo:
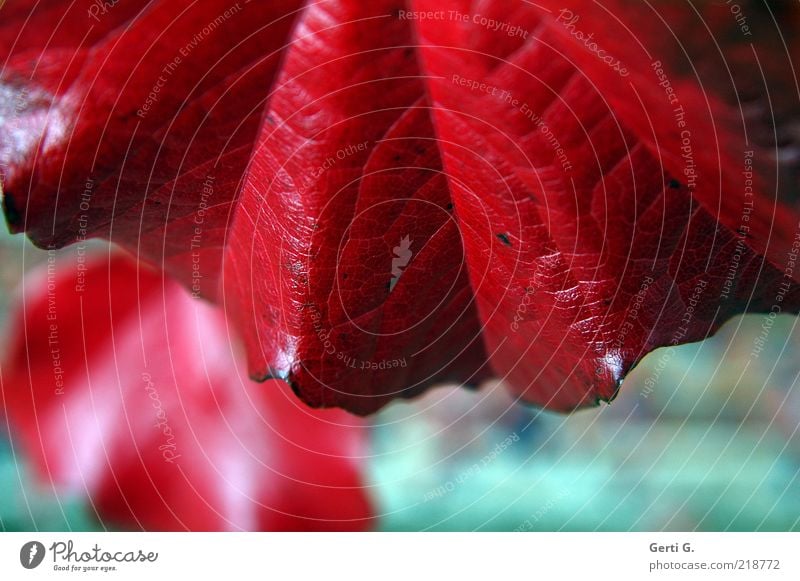
[[[0,230],[5,328],[17,282],[45,253]],[[541,412],[497,383],[389,406],[372,418],[367,474],[379,528],[800,530],[800,329],[779,317],[754,358],[762,321],[650,354],[594,410]],[[2,439],[0,490],[2,530],[105,528],[83,499],[33,483]]]

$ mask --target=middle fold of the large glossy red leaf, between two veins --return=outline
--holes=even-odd
[[[413,31],[390,16],[396,6],[303,12],[226,252],[225,306],[251,372],[359,413],[487,367]]]

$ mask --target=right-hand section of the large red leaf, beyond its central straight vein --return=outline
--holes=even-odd
[[[581,12],[589,4],[594,12]],[[587,18],[611,4],[549,15],[497,5],[486,18],[530,31],[504,43],[472,21],[419,26],[493,367],[524,399],[561,410],[613,398],[655,347],[702,339],[738,312],[775,304],[796,310],[798,300],[792,276],[748,244],[779,229],[760,230],[757,220],[768,216],[742,210],[741,168],[746,159],[751,167],[763,162],[763,151],[742,148],[739,165],[720,164],[728,152],[711,146],[721,139],[735,149],[735,127],[715,133],[719,119],[692,115],[702,97],[716,95],[689,85],[678,105],[686,120],[676,118],[655,73],[628,65],[637,62],[635,51],[624,49],[611,16]],[[468,6],[423,2],[420,9],[450,14]],[[654,33],[658,23],[641,10],[611,14],[637,23],[628,43],[657,36],[643,33],[643,24]],[[624,75],[616,60],[609,66],[579,42],[595,30],[606,34],[592,42],[609,41],[603,54],[616,48],[624,57]],[[469,85],[476,81],[483,88]],[[690,153],[698,157],[691,166],[680,155],[687,135],[695,136]],[[775,207],[766,195],[752,198],[756,208]],[[716,208],[706,206],[710,200]],[[731,217],[723,200],[738,204],[741,236],[715,218]],[[775,252],[784,262],[786,249]]]

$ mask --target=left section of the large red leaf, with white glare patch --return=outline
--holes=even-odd
[[[213,296],[299,5],[5,4],[0,159],[11,229],[42,247],[108,238],[184,279],[199,255],[195,290]]]

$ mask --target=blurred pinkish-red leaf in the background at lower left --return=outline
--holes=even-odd
[[[222,313],[177,283],[121,256],[74,268],[53,255],[26,277],[3,360],[12,442],[40,481],[112,526],[368,527],[365,427],[250,382]]]

